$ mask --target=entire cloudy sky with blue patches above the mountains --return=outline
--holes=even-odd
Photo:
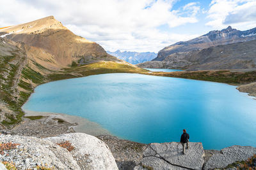
[[[255,0],[3,0],[0,27],[53,15],[105,50],[158,52],[228,25],[256,27]]]

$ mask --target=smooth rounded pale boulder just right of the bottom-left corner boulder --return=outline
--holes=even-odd
[[[108,146],[100,139],[84,133],[62,134],[45,138],[52,143],[69,141],[74,146],[70,153],[77,160],[81,169],[118,169]]]

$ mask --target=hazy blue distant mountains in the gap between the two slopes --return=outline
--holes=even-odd
[[[117,57],[118,59],[125,60],[131,64],[138,64],[141,62],[150,61],[157,57],[157,53],[154,52],[121,52],[120,50],[116,50],[115,52],[109,52],[108,54]]]

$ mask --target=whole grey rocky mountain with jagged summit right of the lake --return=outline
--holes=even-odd
[[[166,46],[155,59],[138,66],[189,70],[256,68],[253,40],[256,40],[256,28],[239,31],[228,26]]]

